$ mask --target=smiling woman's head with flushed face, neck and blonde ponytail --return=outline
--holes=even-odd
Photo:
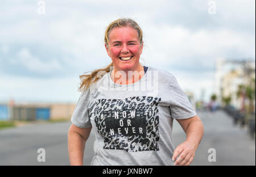
[[[112,62],[106,68],[96,69],[90,74],[80,75],[80,91],[86,90],[90,83],[97,82],[100,77],[96,76],[101,75],[101,73],[108,73],[111,66],[114,67],[115,76],[121,70],[126,71],[126,75],[128,75],[128,70],[143,71],[143,66],[139,64],[139,56],[143,49],[142,37],[142,29],[132,19],[117,19],[110,23],[105,31],[104,42]]]

